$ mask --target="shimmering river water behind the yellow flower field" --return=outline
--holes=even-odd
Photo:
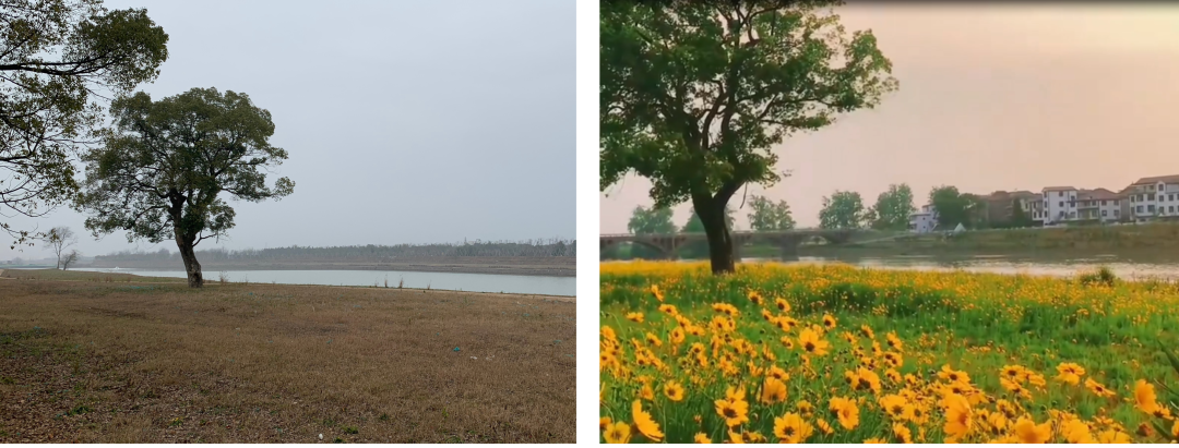
[[[1122,255],[1089,255],[1078,258],[1035,258],[1012,255],[975,255],[937,258],[927,255],[894,255],[862,258],[801,256],[791,260],[744,259],[743,262],[849,263],[878,269],[968,270],[994,274],[1026,274],[1074,276],[1079,273],[1107,267],[1124,279],[1179,280],[1179,254],[1175,256],[1127,258]]]

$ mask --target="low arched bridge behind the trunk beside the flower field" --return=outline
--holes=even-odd
[[[855,229],[799,229],[783,232],[733,232],[733,256],[740,258],[740,247],[751,242],[766,242],[782,249],[783,256],[795,255],[798,245],[810,239],[822,239],[830,245],[843,245],[851,241],[852,236],[867,230]],[[689,242],[709,241],[703,233],[676,233],[676,234],[617,234],[600,235],[598,248],[605,252],[607,248],[620,242],[630,242],[659,250],[665,258],[674,258],[676,249]]]

